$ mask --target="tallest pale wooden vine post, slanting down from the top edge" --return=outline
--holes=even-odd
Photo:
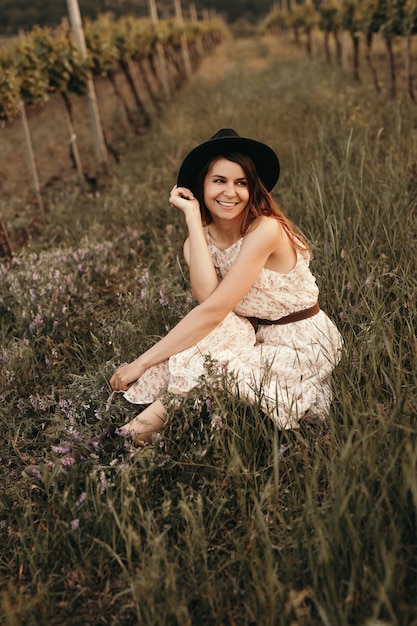
[[[81,14],[78,7],[78,0],[67,0],[67,9],[72,32],[74,33],[78,49],[83,59],[87,58],[87,46],[85,43],[84,31],[81,23]],[[109,173],[109,158],[104,140],[103,128],[101,125],[100,113],[98,110],[97,96],[94,82],[91,75],[87,82],[87,101],[90,113],[91,128],[94,136],[94,148],[96,158],[106,174]]]

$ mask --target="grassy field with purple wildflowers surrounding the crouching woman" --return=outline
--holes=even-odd
[[[0,267],[1,622],[416,626],[415,104],[253,37],[212,52],[142,136],[108,115],[120,163],[86,190],[60,174],[44,224],[12,169],[2,183],[18,254]],[[279,432],[208,376],[152,445],[98,440],[134,415],[114,368],[193,304],[168,195],[221,127],[280,156],[276,198],[345,341],[331,414]]]

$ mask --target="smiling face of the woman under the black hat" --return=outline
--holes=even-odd
[[[235,219],[249,202],[249,185],[242,167],[223,157],[214,161],[204,179],[204,203],[213,218]]]

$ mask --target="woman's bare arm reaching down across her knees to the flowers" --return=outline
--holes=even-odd
[[[110,381],[112,388],[127,390],[149,367],[190,348],[214,330],[252,287],[268,257],[276,251],[280,236],[282,227],[276,219],[259,218],[213,293],[149,350],[118,369]]]

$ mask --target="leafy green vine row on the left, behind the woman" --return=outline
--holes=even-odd
[[[0,120],[14,119],[21,102],[45,102],[53,92],[60,92],[67,102],[69,94],[85,95],[91,75],[106,76],[115,84],[121,69],[134,90],[132,62],[150,67],[160,81],[157,58],[161,50],[175,82],[185,71],[181,68],[185,46],[190,63],[195,64],[224,32],[225,25],[218,19],[160,20],[155,28],[148,18],[114,21],[103,15],[86,20],[84,59],[67,24],[54,30],[37,26],[14,45],[0,49]],[[141,106],[140,94],[135,93],[135,100]]]

